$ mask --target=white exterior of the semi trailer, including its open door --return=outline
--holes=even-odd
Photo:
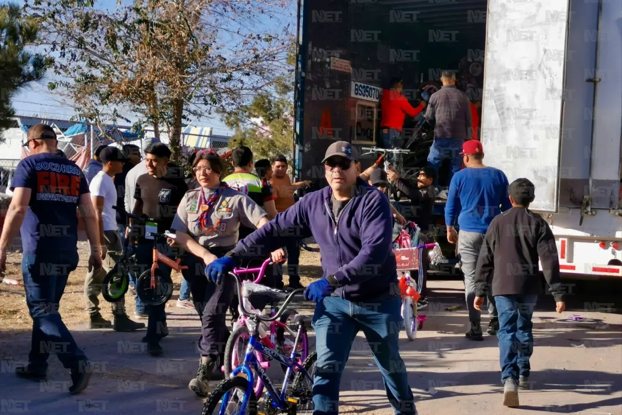
[[[488,5],[485,163],[536,184],[562,272],[622,277],[622,1]]]

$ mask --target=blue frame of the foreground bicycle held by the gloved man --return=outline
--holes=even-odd
[[[259,322],[257,322],[257,324],[259,324]],[[310,381],[313,381],[311,376],[309,376],[309,373],[307,373],[307,371],[304,370],[304,368],[302,368],[302,365],[300,365],[297,361],[295,361],[295,351],[298,346],[298,342],[300,340],[301,332],[302,332],[302,328],[299,328],[298,335],[296,336],[296,341],[294,343],[294,350],[292,350],[291,356],[282,355],[281,353],[278,353],[276,350],[262,345],[261,341],[258,340],[256,333],[253,333],[253,335],[251,335],[248,341],[248,348],[246,349],[246,355],[244,356],[244,363],[238,366],[237,368],[235,368],[233,372],[231,372],[231,376],[245,376],[246,379],[248,379],[248,388],[246,389],[246,393],[244,394],[244,398],[242,399],[242,407],[240,409],[240,413],[244,413],[246,411],[246,408],[248,407],[247,397],[250,396],[251,392],[253,391],[253,386],[255,383],[255,379],[254,379],[255,374],[253,373],[253,370],[255,371],[255,373],[259,375],[259,378],[261,378],[262,384],[266,386],[266,391],[269,394],[270,398],[272,399],[272,404],[276,406],[276,408],[279,408],[279,409],[285,408],[285,404],[286,404],[285,393],[287,392],[287,384],[289,383],[290,374],[292,373],[292,370],[294,370],[294,368],[296,368],[299,371],[302,371],[302,373],[304,373],[307,379],[309,379]],[[264,368],[262,368],[261,364],[257,360],[255,351],[259,351],[259,353],[261,353],[262,355],[267,356],[268,358],[272,358],[273,360],[277,360],[279,361],[279,363],[282,363],[283,365],[287,366],[287,372],[285,372],[285,380],[283,381],[283,386],[281,388],[281,394],[277,393],[276,388],[274,387],[274,384],[268,377]],[[259,399],[260,396],[257,396],[256,398]],[[225,393],[225,396],[223,396],[223,400],[222,400],[223,405],[220,408],[221,415],[225,414],[224,403],[228,402],[229,399],[231,399],[231,391],[228,391],[227,393]],[[295,403],[295,402],[290,401],[290,399],[288,399],[290,403]]]

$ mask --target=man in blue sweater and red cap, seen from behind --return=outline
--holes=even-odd
[[[484,340],[481,332],[481,312],[473,306],[475,300],[475,269],[480,249],[495,216],[512,207],[508,197],[508,178],[503,171],[482,163],[484,149],[481,141],[469,140],[462,145],[466,168],[458,171],[449,185],[445,205],[447,241],[458,243],[458,259],[465,278],[465,297],[471,328],[465,333],[471,340]],[[458,219],[460,236],[454,225]],[[499,318],[494,297],[488,295],[490,323],[488,333],[496,335]]]

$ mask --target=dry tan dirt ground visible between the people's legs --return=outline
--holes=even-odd
[[[60,302],[60,313],[68,327],[80,325],[88,321],[84,305],[84,282],[88,260],[88,243],[78,242],[78,252],[80,253],[80,262],[78,263],[77,269],[69,275],[65,294]],[[21,254],[11,253],[7,255],[7,270],[4,274],[6,278],[15,279],[20,283],[23,282],[21,260]],[[322,276],[319,254],[312,254],[304,249],[301,250],[300,264],[304,264],[300,265],[300,278],[304,285]],[[179,295],[182,274],[173,272],[171,277],[175,282],[175,291],[173,292],[172,300],[176,300]],[[287,284],[287,277],[284,278],[284,282]],[[104,318],[108,320],[111,319],[112,313],[110,307],[106,306],[106,302],[103,298],[100,298],[100,300],[103,302],[103,307],[100,306],[102,308],[101,314]],[[175,303],[172,300],[167,303],[167,307],[175,307]],[[131,317],[131,311],[134,310],[134,297],[131,295],[126,295],[126,308],[128,310],[128,315]],[[11,330],[11,332],[14,333],[24,330],[30,331],[31,328],[32,320],[30,319],[26,307],[24,287],[21,285],[0,284],[0,333],[5,330]]]

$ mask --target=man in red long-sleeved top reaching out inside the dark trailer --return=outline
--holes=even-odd
[[[404,83],[399,78],[391,80],[391,89],[383,91],[383,99],[380,103],[382,119],[380,121],[381,146],[384,148],[402,148],[404,138],[400,138],[404,115],[417,117],[425,108],[425,102],[419,107],[413,108],[406,97],[402,95]]]

